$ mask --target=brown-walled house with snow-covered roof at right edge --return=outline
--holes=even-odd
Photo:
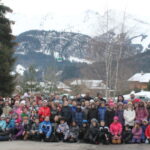
[[[150,73],[136,73],[128,79],[130,89],[146,89],[150,82]]]

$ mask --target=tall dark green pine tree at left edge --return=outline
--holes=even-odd
[[[0,96],[10,96],[15,86],[15,76],[11,75],[14,58],[15,37],[12,35],[13,21],[6,17],[12,10],[0,2]]]

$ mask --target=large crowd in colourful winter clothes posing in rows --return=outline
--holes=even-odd
[[[0,97],[0,141],[150,144],[150,102],[100,93],[74,99],[53,94]]]

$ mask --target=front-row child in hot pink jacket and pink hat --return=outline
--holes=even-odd
[[[110,125],[111,140],[113,144],[121,143],[122,124],[117,116],[114,117],[113,123]]]

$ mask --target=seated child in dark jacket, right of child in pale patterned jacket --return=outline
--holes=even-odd
[[[79,136],[79,126],[75,121],[73,121],[69,130],[68,141],[71,143],[77,142],[78,136]]]

